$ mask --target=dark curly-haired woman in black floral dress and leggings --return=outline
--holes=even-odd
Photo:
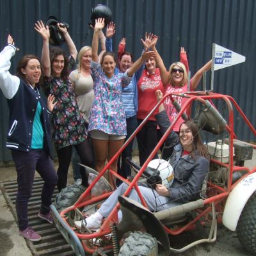
[[[52,47],[49,51],[49,28],[47,26],[45,28],[42,21],[35,24],[35,29],[43,40],[42,70],[45,75],[45,92],[47,95],[51,93],[56,99],[56,106],[52,111],[52,139],[58,154],[58,189],[61,191],[67,186],[72,146],[76,147],[82,164],[92,166],[93,156],[84,120],[77,107],[74,88],[68,79],[76,61],[76,46],[68,35],[67,28],[61,28],[61,24],[57,25],[67,42],[69,56],[66,56],[65,52],[58,47]],[[82,185],[87,186],[87,177],[83,168],[80,169],[80,172]]]

